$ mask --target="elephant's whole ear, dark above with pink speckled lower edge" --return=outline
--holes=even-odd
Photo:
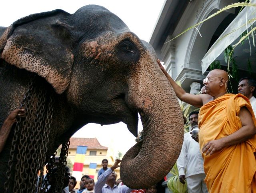
[[[62,94],[69,85],[74,61],[72,26],[60,22],[67,15],[54,10],[17,20],[0,37],[0,58],[35,72]]]

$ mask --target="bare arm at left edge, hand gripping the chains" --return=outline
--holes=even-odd
[[[24,109],[15,109],[4,120],[4,123],[0,129],[0,153],[4,149],[4,145],[11,131],[12,125],[16,122],[16,117],[25,117]]]

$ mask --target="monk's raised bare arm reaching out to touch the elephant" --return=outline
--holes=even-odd
[[[170,84],[172,85],[172,88],[174,89],[174,92],[175,92],[176,96],[181,101],[189,103],[190,105],[195,106],[195,107],[202,107],[204,98],[205,97],[210,98],[209,95],[204,96],[205,94],[194,95],[194,94],[186,93],[186,91],[183,88],[181,88],[180,86],[178,86],[178,84],[166,72],[166,70],[164,69],[164,67],[160,63],[159,59],[157,60],[157,62],[160,66],[160,69],[162,70],[162,72],[164,73],[164,75],[166,76],[166,78],[168,79]]]

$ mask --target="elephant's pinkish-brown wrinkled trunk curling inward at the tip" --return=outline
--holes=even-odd
[[[177,97],[157,67],[144,89],[130,101],[141,115],[143,139],[124,155],[120,176],[133,189],[150,187],[163,179],[178,159],[183,143],[184,125]]]

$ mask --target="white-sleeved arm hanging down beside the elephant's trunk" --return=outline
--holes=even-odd
[[[179,172],[179,180],[181,183],[185,184],[186,176],[185,176],[185,168],[187,165],[187,147],[186,147],[186,138],[184,136],[184,141],[182,144],[180,156],[177,159],[177,168]]]

